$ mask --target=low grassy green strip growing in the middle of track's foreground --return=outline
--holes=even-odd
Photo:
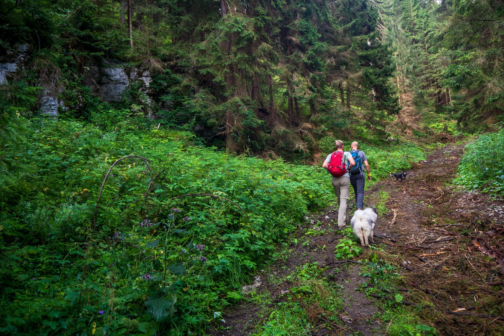
[[[337,312],[343,309],[341,286],[328,280],[317,263],[303,264],[281,281],[291,283],[289,292],[274,307],[264,311],[266,321],[257,326],[254,336],[311,334],[321,325],[320,317],[341,325]],[[269,297],[269,295],[268,295]],[[324,324],[324,322],[322,322]],[[330,327],[330,324],[327,323]]]

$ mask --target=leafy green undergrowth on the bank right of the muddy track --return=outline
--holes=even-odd
[[[481,133],[469,143],[460,160],[458,175],[454,182],[466,189],[479,189],[499,198],[504,195],[504,128],[493,133]]]

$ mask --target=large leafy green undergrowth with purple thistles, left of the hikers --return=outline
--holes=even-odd
[[[2,166],[0,188],[3,334],[202,333],[334,197],[316,168],[233,157],[191,133],[108,115],[18,118],[22,141],[1,150],[16,163]],[[105,174],[129,155],[148,161],[111,169],[95,230]],[[190,193],[211,196],[172,199]]]

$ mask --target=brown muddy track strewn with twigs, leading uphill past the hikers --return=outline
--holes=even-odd
[[[447,145],[416,164],[408,171],[406,180],[395,182],[391,178],[375,184],[366,192],[365,206],[380,203],[385,209],[379,213],[374,230],[375,236],[384,238],[375,237],[374,245],[382,244],[381,256],[399,267],[403,276],[401,294],[404,300],[422,307],[417,315],[425,324],[436,327],[439,335],[502,335],[498,331],[504,330],[504,321],[498,319],[504,315],[502,286],[487,285],[490,280],[504,281],[501,267],[478,250],[473,239],[484,236],[481,244],[496,249],[504,247],[504,234],[499,236],[500,230],[504,233],[503,204],[487,195],[457,191],[450,183],[462,149],[462,145]],[[350,206],[353,213],[353,200]],[[212,328],[209,334],[241,336],[257,332],[257,326],[268,321],[268,310],[285,300],[283,294],[289,290],[289,283],[282,280],[296,267],[313,262],[329,265],[331,268],[325,274],[334,272],[332,281],[342,286],[344,307],[331,313],[341,318],[348,331],[334,327],[329,330],[322,317],[321,326],[311,334],[351,335],[356,331],[363,335],[386,334],[388,323],[376,317],[382,309],[375,304],[379,299],[356,290],[369,279],[359,276],[361,264],[335,263],[334,250],[342,235],[328,229],[332,221],[337,222],[337,217],[334,207],[312,216],[311,222],[296,233],[299,242],[291,246],[289,256],[258,274],[256,291],[268,293],[271,304],[244,303],[229,309],[223,313],[226,322],[221,328],[225,329]],[[303,235],[318,221],[324,224],[317,229],[325,230],[326,234]],[[355,259],[370,253],[366,248]]]

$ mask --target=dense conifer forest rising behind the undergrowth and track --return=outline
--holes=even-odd
[[[101,102],[90,64],[136,67],[151,76],[150,98],[131,81],[115,106],[135,103],[231,152],[304,160],[328,135],[387,139],[396,116],[403,132],[422,136],[426,114],[474,131],[502,111],[498,2],[3,1],[2,9],[2,57],[30,46],[12,80],[44,87],[60,112],[92,121]]]

